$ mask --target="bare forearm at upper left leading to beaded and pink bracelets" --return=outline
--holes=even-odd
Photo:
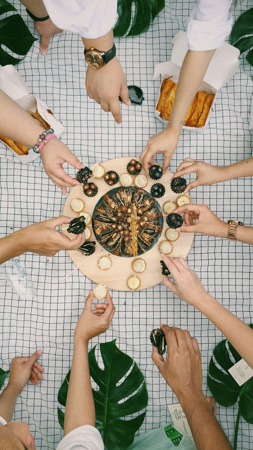
[[[41,126],[18,103],[0,90],[0,135],[19,144],[35,145],[41,130]]]

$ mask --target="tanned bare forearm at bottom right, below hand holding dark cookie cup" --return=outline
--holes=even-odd
[[[191,400],[189,397],[180,400],[189,423],[197,450],[232,450],[221,425],[212,413],[207,400]]]

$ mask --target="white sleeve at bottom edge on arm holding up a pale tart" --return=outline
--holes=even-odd
[[[95,427],[83,425],[63,437],[56,450],[104,450],[104,444]]]

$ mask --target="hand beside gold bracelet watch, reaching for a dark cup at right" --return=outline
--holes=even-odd
[[[216,238],[226,238],[228,224],[219,219],[207,205],[185,204],[174,211],[176,214],[184,213],[185,225],[176,228],[181,233],[201,233]],[[198,220],[194,225],[193,220]]]

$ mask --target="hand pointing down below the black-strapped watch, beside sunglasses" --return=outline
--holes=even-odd
[[[90,99],[95,99],[105,112],[111,112],[115,121],[122,122],[121,107],[118,96],[125,105],[130,106],[126,76],[115,56],[100,69],[91,66],[86,70],[86,91]]]

